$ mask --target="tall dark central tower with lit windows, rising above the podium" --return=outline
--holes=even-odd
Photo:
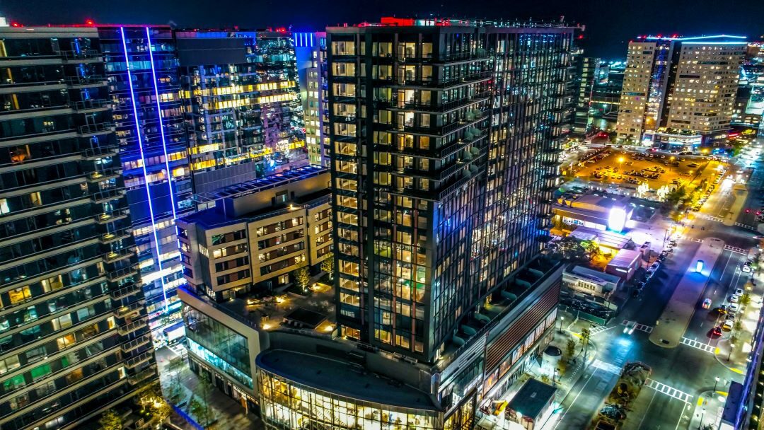
[[[536,256],[570,132],[571,29],[329,28],[342,335],[438,357]]]

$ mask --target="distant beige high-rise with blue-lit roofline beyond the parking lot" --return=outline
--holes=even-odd
[[[629,44],[618,141],[697,147],[730,128],[745,37],[640,37]]]

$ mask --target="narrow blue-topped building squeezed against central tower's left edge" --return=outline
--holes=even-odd
[[[308,159],[311,164],[329,167],[326,33],[293,33],[293,40],[303,98]]]

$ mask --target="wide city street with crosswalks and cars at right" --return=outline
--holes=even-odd
[[[738,169],[742,167],[733,165],[728,174],[736,176]],[[751,179],[750,186],[758,187],[758,175],[759,172],[756,172],[757,177]],[[583,373],[565,399],[564,411],[555,428],[574,429],[589,425],[613,389],[620,368],[629,361],[649,365],[652,375],[636,397],[623,428],[670,430],[689,428],[691,423],[696,428],[701,419],[704,423],[717,419],[718,408],[712,407],[719,403],[716,397],[726,394],[731,380],[743,380],[747,353],[737,347],[730,354],[729,331],[725,331],[721,338],[709,337],[711,328],[719,325],[722,319],[713,309],[729,304],[731,293],[737,288],[744,288],[750,278],[749,273],[743,273],[740,268],[748,259],[749,249],[757,243],[753,238],[756,232],[740,224],[756,225],[753,219],[746,216],[750,214],[743,210],[749,206],[757,207],[757,202],[751,201],[753,195],[756,192],[733,192],[731,185],[726,188],[717,186],[701,212],[691,212],[684,228],[678,226],[681,239],[646,286],[645,293],[630,299],[620,315],[605,328],[594,329],[591,338],[598,347],[597,360]],[[707,276],[696,280],[697,288],[702,291],[698,291],[698,303],[686,329],[683,326],[677,328],[683,331],[678,337],[678,344],[659,346],[650,342],[649,336],[682,276],[688,270],[694,271],[696,252],[711,238],[724,241],[724,249],[713,267],[705,268],[704,274],[707,273]],[[756,283],[751,293],[751,305],[739,318],[752,318],[759,311],[757,303],[762,296],[762,283]],[[700,302],[704,298],[711,299],[711,309],[701,308]],[[572,319],[575,315],[565,315],[565,318]],[[623,333],[627,322],[638,323],[632,335]],[[570,329],[580,332],[581,328],[591,326],[590,322],[579,320]],[[740,343],[747,343],[750,331],[744,329],[740,338]],[[717,385],[716,397],[713,396],[714,385]],[[706,395],[702,396],[703,393]],[[709,400],[711,397],[714,399]]]

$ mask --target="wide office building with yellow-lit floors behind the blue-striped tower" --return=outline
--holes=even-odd
[[[308,163],[290,33],[176,31],[176,43],[195,193]]]

